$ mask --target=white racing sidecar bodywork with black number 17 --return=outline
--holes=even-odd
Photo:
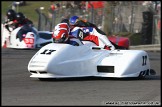
[[[145,77],[151,75],[149,56],[143,50],[105,50],[83,41],[82,46],[50,43],[29,61],[32,78]]]

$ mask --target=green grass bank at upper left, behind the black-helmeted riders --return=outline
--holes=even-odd
[[[13,1],[2,1],[1,2],[1,21],[4,21],[5,14],[8,9],[11,9]],[[32,20],[34,23],[38,23],[38,14],[36,13],[35,9],[44,7],[43,13],[48,16],[48,9],[50,8],[51,1],[26,1],[25,6],[19,6],[16,8],[17,12],[22,12],[24,15]]]

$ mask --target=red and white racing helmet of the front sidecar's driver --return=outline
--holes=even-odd
[[[69,26],[67,23],[60,23],[55,26],[53,39],[56,43],[65,43],[69,38]]]

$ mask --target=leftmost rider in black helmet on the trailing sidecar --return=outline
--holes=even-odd
[[[11,30],[9,29],[9,27],[15,29],[15,23],[16,21],[16,12],[13,9],[9,9],[6,13],[7,16],[7,20],[4,22],[4,26],[6,27],[6,29],[11,32]]]

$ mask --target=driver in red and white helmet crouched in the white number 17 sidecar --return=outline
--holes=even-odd
[[[53,31],[53,39],[55,43],[67,43],[73,46],[80,46],[83,43],[76,37],[69,35],[70,28],[67,23],[59,23]]]

